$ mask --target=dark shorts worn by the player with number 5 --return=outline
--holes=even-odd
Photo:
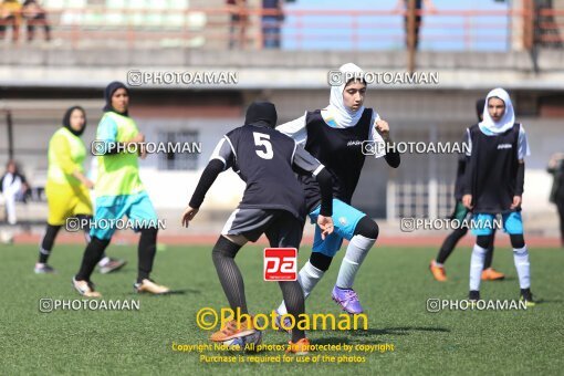
[[[221,234],[243,236],[255,242],[265,234],[270,247],[300,248],[305,222],[285,210],[236,209]]]

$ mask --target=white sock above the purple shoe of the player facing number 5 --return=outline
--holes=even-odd
[[[353,289],[356,273],[376,239],[356,234],[351,239],[337,275],[337,288]]]

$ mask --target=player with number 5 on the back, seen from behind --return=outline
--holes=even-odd
[[[305,222],[303,189],[295,171],[313,176],[321,187],[321,213],[317,224],[323,238],[333,232],[332,181],[323,165],[290,137],[274,129],[276,109],[272,103],[255,102],[247,111],[244,125],[229,132],[219,142],[182,215],[188,226],[201,206],[217,176],[232,168],[246,182],[243,198],[227,221],[212,251],[213,264],[236,317],[211,341],[224,342],[254,333],[251,320],[238,317],[238,309],[248,315],[243,280],[234,257],[247,241],[265,234],[271,247],[300,248]],[[297,322],[304,313],[303,291],[297,281],[279,282],[289,313]],[[303,353],[305,333],[292,330],[290,349]]]

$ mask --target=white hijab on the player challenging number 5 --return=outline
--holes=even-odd
[[[343,92],[345,91],[346,82],[345,73],[358,73],[362,76],[363,70],[353,63],[346,63],[338,69],[343,75],[343,83],[338,86],[331,86],[330,105],[322,109],[323,118],[333,118],[338,128],[348,128],[355,126],[363,116],[364,106],[357,111],[348,109],[343,102]]]

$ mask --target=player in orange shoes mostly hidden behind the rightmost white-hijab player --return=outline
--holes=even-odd
[[[476,113],[478,115],[478,122],[481,122],[483,119],[483,107],[485,106],[485,100],[481,98],[476,102]],[[450,219],[458,220],[462,222],[463,220],[469,219],[472,215],[471,211],[468,210],[467,207],[462,203],[462,195],[463,195],[463,180],[464,180],[464,171],[466,171],[466,165],[468,157],[464,153],[460,153],[458,158],[458,167],[457,167],[457,180],[455,182],[455,211],[452,212],[452,216]],[[435,280],[439,282],[447,281],[447,272],[445,271],[445,262],[447,262],[447,259],[450,257],[452,251],[455,250],[455,247],[457,247],[457,243],[460,239],[462,239],[468,233],[468,228],[462,227],[459,229],[456,229],[452,231],[447,239],[442,242],[442,246],[440,247],[439,253],[437,254],[437,259],[431,260],[429,264],[429,270],[431,271],[432,276]],[[493,231],[492,237],[495,237],[495,231]],[[490,244],[491,247],[488,248],[488,253],[485,253],[485,261],[483,263],[483,271],[482,271],[482,281],[497,281],[497,280],[503,280],[505,278],[505,274],[498,272],[491,267],[492,260],[493,260],[493,241]]]

